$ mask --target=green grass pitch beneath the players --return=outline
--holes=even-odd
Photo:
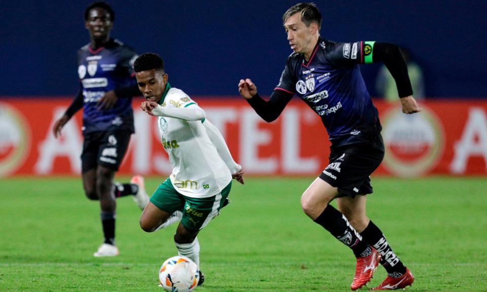
[[[197,291],[349,291],[353,253],[301,211],[314,178],[234,182],[231,204],[198,236],[206,280]],[[119,178],[128,181],[128,178]],[[146,178],[152,192],[162,178]],[[369,217],[415,276],[410,291],[487,291],[487,180],[374,178]],[[145,233],[131,198],[117,200],[120,256],[94,258],[98,202],[81,179],[0,180],[0,291],[161,291],[177,254],[169,230]],[[386,276],[379,267],[369,287]]]

